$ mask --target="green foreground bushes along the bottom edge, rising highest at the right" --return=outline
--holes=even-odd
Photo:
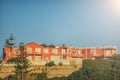
[[[53,63],[49,63],[52,65]],[[19,71],[23,68],[16,67]],[[84,60],[83,67],[73,72],[68,77],[54,77],[49,79],[47,73],[26,74],[23,79],[17,80],[120,80],[120,55],[113,56],[111,59],[103,60]],[[20,77],[21,74],[19,74]],[[18,74],[10,75],[5,80],[16,80]],[[0,79],[3,80],[3,79]]]

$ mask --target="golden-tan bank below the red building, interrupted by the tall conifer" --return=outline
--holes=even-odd
[[[15,64],[0,65],[0,77],[4,78],[10,74],[14,74],[15,72],[14,66]],[[52,77],[68,76],[72,72],[78,70],[81,67],[82,67],[82,61],[79,61],[79,63],[77,63],[76,61],[73,60],[70,61],[69,65],[62,65],[62,66],[55,65],[52,67],[44,66],[44,65],[32,65],[31,69],[32,69],[32,73],[41,73],[43,71],[46,71],[48,74],[47,76],[49,78],[52,78]]]

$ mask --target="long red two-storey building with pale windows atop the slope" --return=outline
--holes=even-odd
[[[55,48],[44,47],[35,42],[25,45],[28,59],[34,62],[44,60],[73,60],[73,59],[95,59],[97,57],[112,57],[117,54],[116,47],[101,48],[74,48],[68,46],[57,46]],[[3,62],[19,55],[18,47],[3,49]]]

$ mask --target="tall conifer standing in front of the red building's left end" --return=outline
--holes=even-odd
[[[18,60],[16,62],[15,71],[16,71],[17,80],[25,80],[25,77],[31,71],[30,70],[31,63],[27,59],[27,54],[25,52],[25,47],[23,42],[20,43],[19,50],[20,50],[20,55],[17,57]]]

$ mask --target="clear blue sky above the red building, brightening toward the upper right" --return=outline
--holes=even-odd
[[[10,33],[16,45],[120,48],[120,0],[0,0],[0,54]]]

